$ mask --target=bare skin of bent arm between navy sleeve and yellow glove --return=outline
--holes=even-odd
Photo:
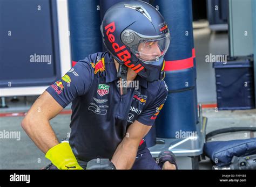
[[[22,120],[24,131],[44,154],[59,143],[49,121],[62,110],[63,107],[44,91]]]

